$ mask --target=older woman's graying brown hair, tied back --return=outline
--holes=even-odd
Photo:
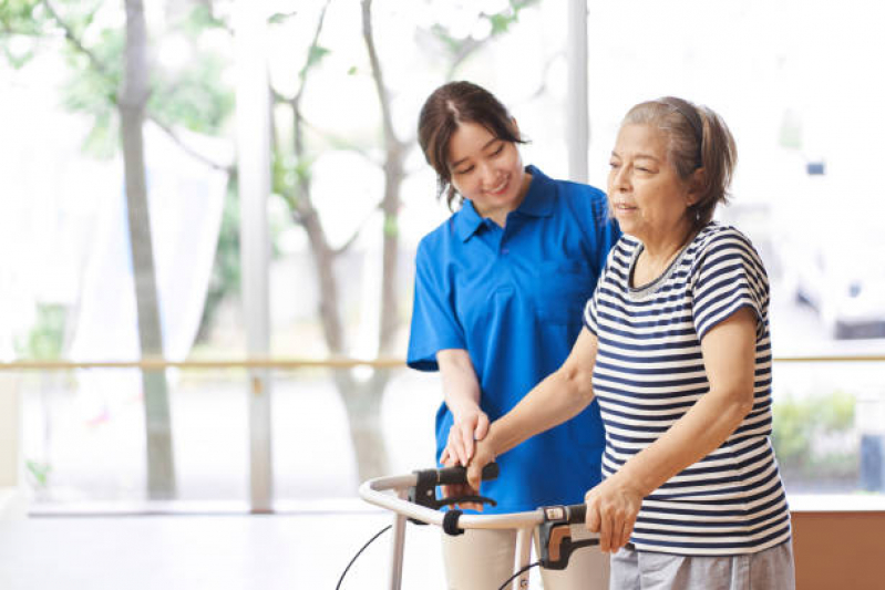
[[[718,204],[727,204],[738,164],[738,148],[726,122],[706,106],[665,96],[637,104],[621,125],[652,125],[669,138],[668,156],[683,180],[703,168],[700,198],[689,208],[692,230],[710,222]]]

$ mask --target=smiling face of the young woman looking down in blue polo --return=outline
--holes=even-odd
[[[483,217],[516,209],[531,178],[516,145],[498,139],[476,123],[462,123],[449,143],[452,185]]]

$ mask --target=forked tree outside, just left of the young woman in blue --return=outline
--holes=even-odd
[[[276,168],[274,189],[284,196],[289,204],[292,219],[301,226],[310,244],[313,267],[320,290],[319,315],[323,335],[329,352],[332,355],[346,355],[348,352],[347,339],[342,324],[342,309],[340,289],[335,273],[336,262],[350,248],[357,239],[361,228],[340,248],[332,248],[322,220],[317,211],[311,193],[310,162],[311,154],[306,142],[307,120],[302,112],[301,103],[310,81],[311,73],[317,69],[322,59],[328,55],[328,49],[319,43],[322,32],[327,1],[317,20],[312,42],[307,51],[303,64],[298,70],[298,91],[291,97],[286,97],[274,91],[276,103],[286,105],[290,110],[294,121],[291,164],[287,168],[287,149],[278,145],[276,149]],[[464,63],[480,48],[484,46],[496,35],[504,34],[508,28],[518,20],[519,11],[536,3],[536,0],[511,0],[510,6],[497,13],[486,14],[480,12],[477,19],[486,19],[491,27],[490,32],[476,39],[472,35],[456,37],[446,28],[435,25],[423,34],[429,35],[442,45],[449,58],[446,79],[451,79],[457,66]],[[393,352],[393,342],[399,325],[400,301],[397,292],[397,261],[399,258],[399,214],[400,188],[405,177],[404,162],[409,147],[414,145],[414,138],[403,139],[394,131],[392,102],[393,95],[385,84],[382,59],[378,54],[372,21],[373,0],[361,0],[362,40],[366,45],[370,74],[378,97],[379,120],[381,125],[381,145],[383,161],[379,164],[383,170],[383,192],[377,208],[383,216],[383,246],[382,246],[382,277],[381,277],[381,307],[380,330],[378,334],[378,350],[381,355]],[[359,149],[357,146],[348,146]],[[288,174],[287,173],[291,173]],[[284,182],[287,176],[297,180],[291,184]],[[389,459],[381,432],[381,401],[383,392],[390,380],[389,369],[375,369],[367,381],[358,381],[348,371],[335,371],[333,380],[347,410],[350,425],[350,438],[357,454],[357,465],[360,480],[377,477],[388,473]]]

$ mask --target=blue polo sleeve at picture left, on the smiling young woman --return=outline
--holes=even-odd
[[[422,240],[415,256],[415,292],[407,364],[419,371],[438,371],[436,352],[466,349],[457,321],[451,281],[444,280],[443,256],[434,256]]]

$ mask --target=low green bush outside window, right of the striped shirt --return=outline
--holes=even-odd
[[[846,452],[815,451],[814,442],[847,433],[854,425],[855,398],[844,392],[803,400],[788,398],[773,407],[773,443],[784,470],[802,476],[838,477],[856,469]]]

